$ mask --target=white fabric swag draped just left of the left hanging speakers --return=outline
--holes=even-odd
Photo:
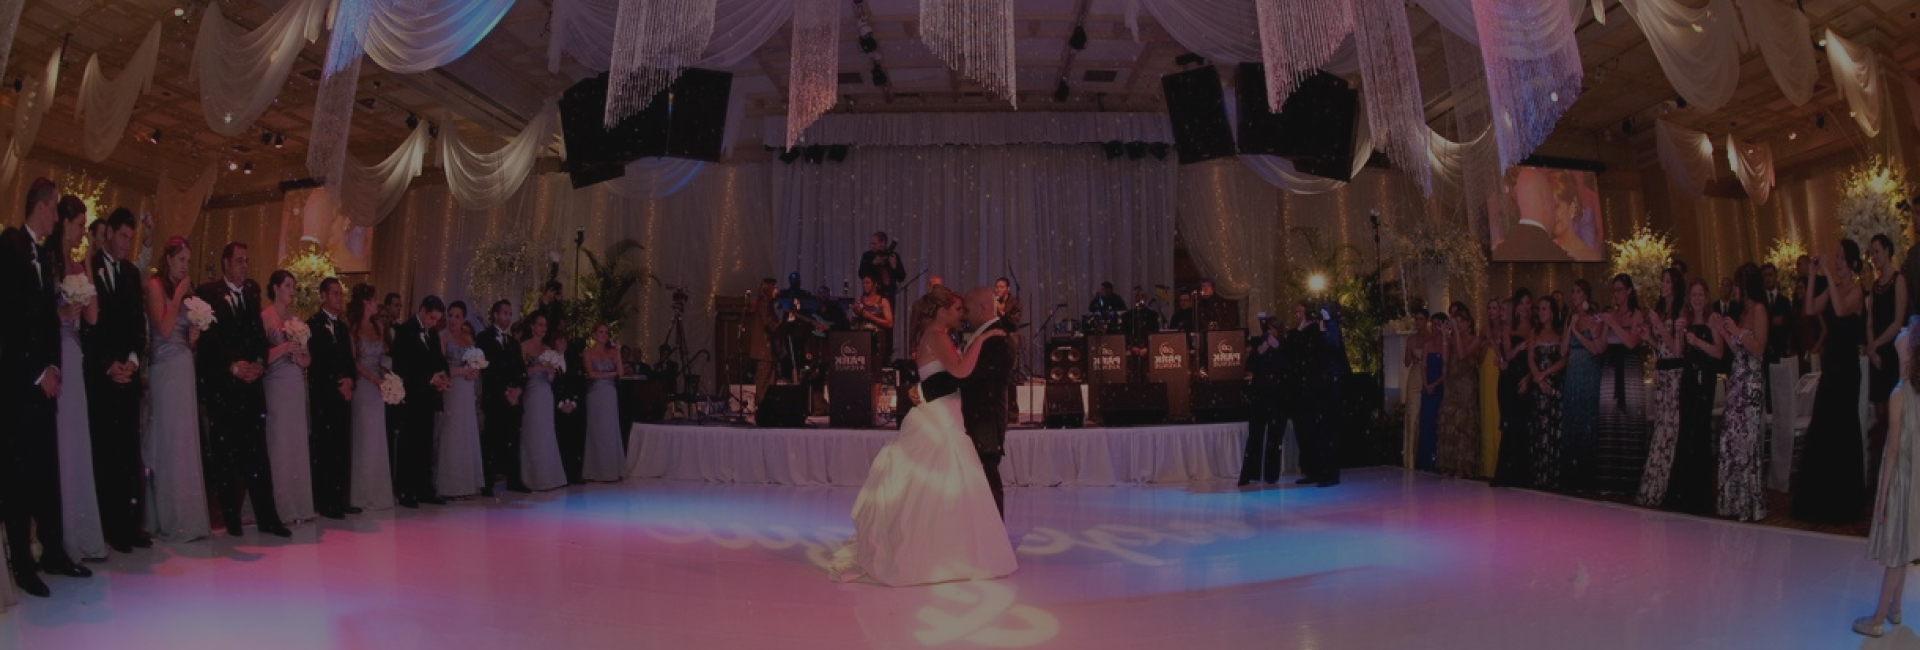
[[[474,151],[461,142],[459,128],[447,123],[440,128],[440,163],[447,169],[447,188],[467,209],[499,205],[520,190],[540,153],[559,142],[559,132],[561,109],[551,100],[526,121],[526,130],[493,151]]]

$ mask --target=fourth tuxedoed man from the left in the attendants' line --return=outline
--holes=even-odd
[[[361,512],[348,502],[353,437],[353,337],[348,334],[346,288],[321,280],[321,311],[307,318],[307,454],[313,462],[313,510],[328,520]],[[298,489],[288,485],[288,489]]]

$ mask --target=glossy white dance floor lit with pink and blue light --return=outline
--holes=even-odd
[[[0,648],[1920,644],[1847,631],[1882,573],[1860,539],[1402,470],[1012,489],[1020,571],[906,589],[828,581],[852,499],[641,479],[163,545],[50,579],[0,614]]]

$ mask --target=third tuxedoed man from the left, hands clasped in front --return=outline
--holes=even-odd
[[[253,497],[261,533],[294,537],[273,504],[273,464],[267,460],[267,326],[259,318],[259,284],[248,280],[246,244],[221,249],[221,278],[194,290],[213,307],[213,326],[194,351],[200,403],[207,412],[207,489],[221,506],[227,533],[240,537],[240,502]]]

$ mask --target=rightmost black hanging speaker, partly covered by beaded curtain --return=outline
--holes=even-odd
[[[1304,174],[1354,180],[1354,119],[1359,92],[1340,77],[1313,73],[1300,82],[1279,113],[1267,109],[1267,73],[1261,63],[1240,63],[1235,73],[1240,111],[1240,153],[1281,155]]]

